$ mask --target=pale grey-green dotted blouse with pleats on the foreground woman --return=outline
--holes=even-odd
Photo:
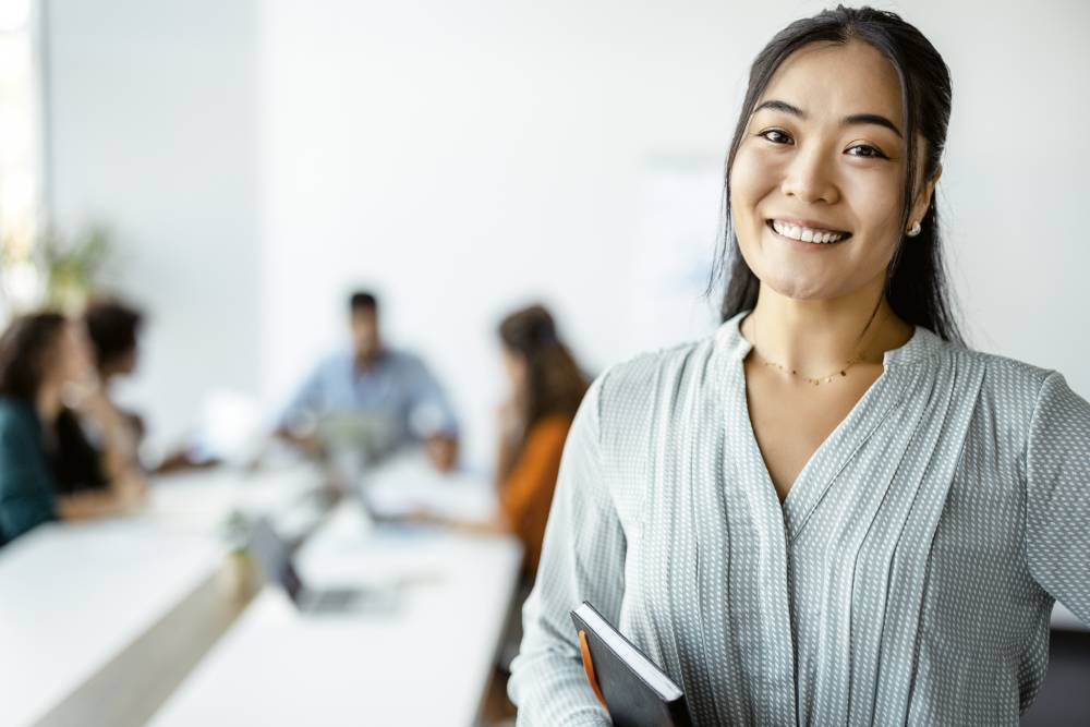
[[[1090,623],[1090,404],[917,327],[780,505],[744,315],[592,386],[523,611],[518,724],[609,724],[568,616],[588,599],[697,725],[1016,725],[1054,599]]]

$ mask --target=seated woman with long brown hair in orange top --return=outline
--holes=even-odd
[[[564,441],[588,379],[541,305],[507,316],[499,338],[510,393],[498,413],[496,483],[504,524],[522,541],[523,573],[532,580]]]

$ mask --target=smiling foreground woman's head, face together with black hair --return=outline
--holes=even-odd
[[[762,280],[797,299],[869,283],[882,286],[901,319],[960,341],[931,204],[950,114],[949,71],[907,23],[861,12],[848,31],[845,20],[797,21],[753,62],[727,158],[723,318],[752,310]],[[782,196],[771,197],[773,189]],[[800,219],[800,208],[813,216],[819,207],[822,219]],[[774,230],[777,218],[800,229]],[[761,226],[772,229],[767,238]],[[777,233],[812,242],[806,228],[823,226],[857,243],[821,260],[789,254],[811,245],[761,244]]]

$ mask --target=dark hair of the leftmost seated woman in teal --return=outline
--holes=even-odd
[[[59,313],[33,313],[11,322],[0,336],[0,396],[32,405],[41,387],[46,356],[52,352],[68,319]]]

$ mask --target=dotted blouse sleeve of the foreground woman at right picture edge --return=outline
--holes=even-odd
[[[1038,395],[1026,474],[1030,573],[1090,625],[1090,403],[1056,372]]]

